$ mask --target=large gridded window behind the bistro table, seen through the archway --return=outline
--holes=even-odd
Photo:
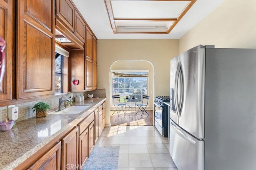
[[[112,94],[124,97],[135,96],[138,101],[148,95],[148,70],[112,70]]]

